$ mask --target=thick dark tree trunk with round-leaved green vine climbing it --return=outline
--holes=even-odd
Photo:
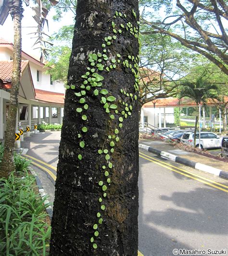
[[[50,255],[136,256],[138,0],[78,0],[76,13]]]

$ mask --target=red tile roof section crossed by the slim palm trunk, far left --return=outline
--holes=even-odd
[[[21,61],[21,72],[25,70],[25,67],[28,65],[28,60]],[[3,82],[12,81],[12,72],[13,72],[13,60],[0,61],[0,79]]]

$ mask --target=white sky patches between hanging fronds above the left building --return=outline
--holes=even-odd
[[[34,35],[29,35],[29,33],[32,33],[36,31],[37,29],[37,23],[33,19],[33,10],[31,9],[33,5],[30,4],[30,6],[24,6],[24,17],[22,19],[22,50],[32,55],[33,57],[36,57],[39,59],[40,53],[39,50],[34,50],[33,48],[36,48],[37,46],[33,47],[34,42],[36,39],[31,39],[34,37]],[[48,13],[47,19],[49,24],[49,29],[45,25],[44,31],[48,35],[52,35],[54,32],[57,32],[61,27],[65,25],[71,25],[74,24],[74,16],[71,12],[64,14],[63,18],[60,21],[53,21],[52,16],[55,14],[53,8]],[[30,28],[28,28],[28,26]],[[11,15],[8,15],[5,23],[1,26],[0,25],[0,37],[4,38],[5,40],[8,40],[13,43],[13,21]],[[33,47],[33,48],[32,48]]]

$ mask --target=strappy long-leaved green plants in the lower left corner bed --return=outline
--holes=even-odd
[[[0,159],[2,157],[0,145]],[[16,172],[0,179],[0,255],[45,256],[51,227],[46,223],[45,200],[38,194],[29,162],[14,156]]]

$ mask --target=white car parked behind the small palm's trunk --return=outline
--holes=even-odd
[[[190,145],[194,145],[194,132],[186,132],[181,137],[183,142]],[[221,148],[222,138],[218,135],[210,132],[200,133],[200,143],[199,143],[199,132],[196,133],[196,147],[201,145],[201,148]]]

